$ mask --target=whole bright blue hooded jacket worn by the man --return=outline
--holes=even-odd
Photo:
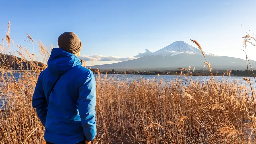
[[[96,135],[95,105],[92,71],[82,67],[77,56],[53,48],[48,68],[39,75],[32,99],[32,106],[46,128],[44,139],[55,144],[93,140]]]

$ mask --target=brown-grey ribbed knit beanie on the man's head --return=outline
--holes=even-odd
[[[77,54],[82,49],[82,43],[74,32],[64,32],[58,38],[59,48],[71,54]]]

